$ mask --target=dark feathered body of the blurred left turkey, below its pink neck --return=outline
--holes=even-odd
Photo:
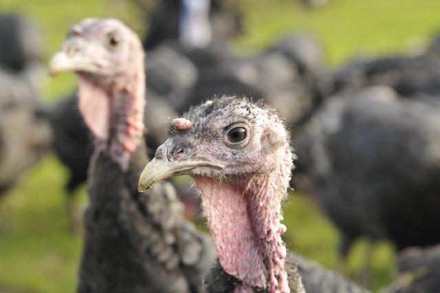
[[[146,194],[138,147],[129,171],[100,154],[89,174],[79,292],[196,292],[213,260],[212,240],[186,221],[170,184]]]

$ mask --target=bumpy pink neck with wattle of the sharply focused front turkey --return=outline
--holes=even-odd
[[[234,292],[252,292],[253,288],[289,292],[281,239],[285,232],[281,202],[289,174],[283,170],[254,177],[240,186],[194,178],[221,266],[243,282]]]

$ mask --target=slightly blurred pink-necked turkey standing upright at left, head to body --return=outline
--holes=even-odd
[[[79,292],[196,292],[214,259],[210,238],[181,213],[173,187],[137,192],[148,162],[144,52],[116,19],[84,19],[50,61],[76,72],[78,109],[94,135]]]

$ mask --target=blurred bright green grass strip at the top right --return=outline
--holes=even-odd
[[[388,54],[440,30],[439,1],[331,0],[309,10],[292,0],[243,0],[252,8],[239,39],[243,50],[267,47],[285,34],[311,33],[327,51],[329,65],[359,53]]]

